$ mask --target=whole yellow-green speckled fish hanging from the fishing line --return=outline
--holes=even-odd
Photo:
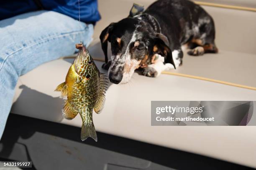
[[[97,134],[92,120],[92,109],[99,114],[105,103],[105,90],[108,77],[100,73],[89,51],[76,44],[78,55],[69,68],[65,82],[58,85],[55,91],[67,96],[62,109],[63,117],[72,120],[78,113],[82,118],[81,140],[88,137],[97,142]]]

